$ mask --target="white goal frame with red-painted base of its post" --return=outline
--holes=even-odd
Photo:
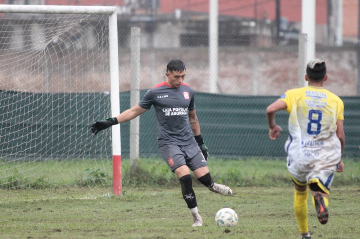
[[[117,33],[117,12],[116,12],[116,7],[114,7],[114,6],[0,5],[0,13],[1,14],[50,14],[50,15],[51,14],[108,15],[108,17],[107,17],[108,18],[108,33],[107,33],[108,38],[107,39],[103,39],[103,38],[101,39],[101,41],[106,42],[106,44],[108,44],[106,46],[107,50],[104,51],[105,53],[102,53],[102,55],[99,54],[100,57],[98,57],[98,58],[99,58],[99,61],[102,61],[101,56],[109,57],[109,61],[108,61],[109,63],[106,63],[106,69],[109,68],[109,74],[103,74],[103,75],[106,75],[106,76],[109,75],[110,76],[111,117],[115,117],[118,114],[120,114],[118,35],[117,35],[118,33]],[[29,19],[31,19],[31,17],[28,17],[26,20],[30,21]],[[10,19],[10,22],[12,20],[13,19]],[[15,19],[15,17],[14,17],[14,20],[18,20],[18,18]],[[79,22],[78,25],[80,25],[81,21],[79,20],[78,22]],[[12,23],[9,24],[9,28],[13,27],[11,24]],[[64,26],[66,26],[65,25],[66,23],[63,23],[63,24],[64,24]],[[27,23],[25,22],[24,25],[21,26],[21,27],[24,27],[26,25],[27,25]],[[44,23],[44,26],[45,26],[45,23]],[[81,26],[81,27],[83,27],[83,26]],[[61,29],[58,29],[58,31],[61,32]],[[18,33],[16,33],[17,31],[15,31],[15,30],[13,32],[14,33],[12,33],[12,34],[18,34]],[[30,34],[30,33],[27,33],[27,34]],[[85,33],[85,34],[87,34],[87,33]],[[31,37],[33,37],[33,36],[31,36]],[[100,39],[101,37],[98,37],[98,38]],[[94,39],[97,39],[97,38],[94,38]],[[8,40],[6,40],[6,41],[8,41]],[[86,39],[85,39],[85,41],[86,41]],[[51,39],[49,40],[48,43],[47,42],[45,42],[45,43],[42,42],[41,44],[43,44],[44,47],[46,47],[46,45],[50,44],[50,42],[51,42]],[[10,44],[10,43],[8,43],[8,44]],[[12,46],[14,46],[15,44],[20,44],[20,43],[18,43],[18,42],[12,43]],[[13,48],[12,47],[7,47],[6,50],[10,51],[9,49],[11,50]],[[92,51],[94,51],[94,50],[92,50]],[[87,52],[86,52],[87,61],[89,61],[89,59],[91,59],[91,52],[92,51],[87,50]],[[11,54],[13,52],[11,52]],[[20,53],[17,53],[17,54],[20,55]],[[8,55],[10,55],[10,54],[8,54]],[[45,55],[45,53],[44,53],[44,55]],[[19,59],[20,58],[21,58],[21,55],[20,55]],[[24,57],[22,57],[22,58],[24,58]],[[42,55],[41,55],[40,58],[42,58]],[[84,62],[81,59],[82,57],[78,57],[78,58],[79,58],[79,61],[81,61],[81,63],[83,64]],[[20,60],[18,60],[18,61],[20,61]],[[67,63],[66,61],[67,60],[64,60],[64,64]],[[98,67],[96,64],[97,64],[97,62],[95,62],[95,61],[91,62],[91,66],[94,67],[94,68]],[[43,64],[43,65],[45,65],[45,64]],[[108,67],[108,65],[109,65],[109,67]],[[19,69],[15,69],[14,71],[20,71]],[[31,70],[30,73],[32,74],[36,70],[38,70],[38,69]],[[70,69],[70,70],[72,70],[72,69]],[[61,71],[60,66],[59,66],[59,69],[57,71],[59,71],[59,72]],[[65,70],[63,70],[63,71],[65,72]],[[80,76],[78,78],[86,78],[87,77],[86,76],[86,69],[83,70],[80,73],[79,72],[80,71],[78,71],[76,69],[75,73],[74,73],[74,74],[80,74]],[[68,73],[68,72],[65,72],[65,73],[66,74],[72,74],[72,73]],[[6,74],[6,73],[3,73],[3,74]],[[44,73],[41,72],[39,74],[44,74]],[[63,73],[61,73],[61,74],[63,74]],[[100,75],[100,77],[102,76],[101,74],[99,74],[99,75]],[[98,77],[98,78],[100,78],[100,77]],[[105,81],[105,80],[107,80],[107,79],[101,79],[100,81]],[[71,84],[76,85],[76,82],[72,82]],[[72,87],[74,87],[74,86],[72,86]],[[85,83],[80,87],[85,89],[86,87],[89,87],[89,86],[86,85],[86,83]],[[17,90],[17,91],[21,91],[21,88],[9,88],[9,87],[3,86],[3,88],[1,88],[1,90]],[[24,90],[24,92],[36,92],[36,91]],[[50,92],[50,93],[55,94],[54,92],[57,93],[56,91],[53,91],[53,92]],[[74,92],[74,91],[72,91],[72,92]],[[87,88],[82,92],[90,92],[91,93],[91,91],[87,90]],[[93,90],[92,93],[94,93],[94,92],[96,93],[96,90]],[[85,107],[87,107],[87,106],[85,106]],[[96,109],[96,107],[95,107],[95,109]],[[8,117],[10,118],[10,116],[8,116]],[[6,117],[4,117],[4,118],[6,118]],[[24,120],[26,121],[27,119],[24,119]],[[91,119],[91,120],[93,120],[93,119]],[[98,119],[98,120],[101,120],[101,119]],[[10,127],[8,127],[8,128],[10,128]],[[86,133],[87,133],[86,130],[90,131],[90,128],[85,130],[85,127],[83,127],[82,130],[84,131],[84,133],[83,133],[83,135],[85,135],[84,137],[93,137],[92,135],[90,135],[90,133],[86,136]],[[39,137],[41,137],[41,136],[37,136],[36,138],[39,138]],[[69,136],[69,137],[72,137],[72,136]],[[76,141],[76,139],[75,139],[75,141]],[[88,141],[86,141],[86,142],[88,142]],[[121,187],[120,124],[112,127],[111,142],[112,142],[112,159],[113,159],[113,162],[112,162],[112,165],[113,165],[113,182],[112,182],[113,183],[113,185],[112,185],[113,193],[114,193],[114,195],[120,195],[121,190],[122,190],[122,187]],[[37,147],[39,147],[39,146],[37,146]],[[43,145],[41,145],[40,147],[43,147]],[[90,147],[91,147],[91,145],[90,145]],[[35,146],[33,148],[35,149]],[[79,148],[78,150],[81,150],[82,146],[79,146],[78,148]],[[23,153],[23,151],[20,151],[20,152]],[[15,158],[17,157],[16,155],[13,155],[12,153],[6,153],[6,152],[5,153],[2,152],[2,153],[5,154],[5,156],[10,155],[10,156],[13,156]],[[50,156],[52,156],[52,155],[50,155]],[[65,156],[64,158],[66,158],[66,157],[70,158],[69,156]],[[82,156],[82,157],[86,158],[87,156],[85,155],[85,156]],[[86,167],[86,166],[84,166],[84,167]]]

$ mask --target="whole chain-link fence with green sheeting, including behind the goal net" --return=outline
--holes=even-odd
[[[0,71],[1,89],[41,93],[44,97],[48,95],[50,98],[59,93],[64,94],[65,98],[71,98],[70,93],[88,94],[91,92],[94,94],[95,101],[96,97],[99,97],[100,102],[104,102],[105,108],[107,107],[102,112],[100,108],[96,108],[96,115],[99,118],[108,117],[110,112],[105,98],[110,92],[110,81],[106,20],[94,16],[87,16],[86,20],[72,18],[62,17],[62,20],[54,20],[50,17],[45,20],[21,19],[16,16],[1,18],[0,20],[4,23],[0,31],[1,42],[3,42],[0,54],[4,62]],[[64,22],[64,19],[68,22]],[[72,27],[63,28],[71,24],[73,24]],[[26,27],[27,25],[30,27]],[[21,34],[18,30],[21,30]],[[40,33],[43,34],[44,39],[47,39],[43,43],[40,41],[42,39]],[[121,111],[130,107],[129,91],[131,81],[134,80],[131,74],[131,55],[135,50],[131,49],[133,38],[130,30],[118,31]],[[276,142],[268,139],[265,108],[286,90],[304,83],[298,75],[300,57],[297,38],[285,41],[261,35],[221,34],[217,61],[218,74],[215,77],[211,75],[215,71],[209,65],[207,33],[177,33],[176,31],[171,31],[169,34],[142,33],[138,40],[140,59],[133,60],[139,60],[140,64],[136,70],[140,79],[140,98],[146,89],[166,80],[168,61],[174,58],[183,60],[187,71],[185,82],[196,92],[201,131],[212,156],[219,158],[285,156],[283,143],[287,137],[287,131],[285,130],[283,136]],[[307,43],[311,46],[315,45],[311,40]],[[44,48],[39,50],[39,47]],[[352,45],[334,47],[316,44],[316,57],[327,62],[329,80],[325,83],[325,88],[341,96],[345,102],[347,135],[345,154],[355,158],[360,157],[359,133],[357,133],[360,132],[359,121],[356,120],[359,114],[358,50],[357,46]],[[305,64],[303,68],[305,69]],[[213,92],[210,89],[210,80],[213,79],[216,80],[216,93],[209,93]],[[24,95],[24,99],[26,98],[28,96]],[[84,97],[79,95],[75,98],[84,100]],[[69,105],[67,100],[63,101],[64,106]],[[91,104],[89,103],[91,100],[87,101],[87,103],[78,102],[72,109],[80,105],[83,109],[84,106]],[[8,110],[2,114],[5,117],[4,121],[9,117],[10,112],[15,112],[15,108],[18,107],[15,105],[17,102],[20,104],[22,100],[15,100],[12,103],[14,109],[4,108],[3,112],[5,109]],[[53,100],[51,107],[49,106],[52,109],[51,114],[54,113],[54,102]],[[44,104],[33,107],[46,109]],[[91,107],[88,108],[91,109]],[[76,112],[77,115],[80,111]],[[48,137],[45,139],[42,134],[34,136],[37,139],[34,142],[40,146],[45,157],[58,156],[59,153],[46,155],[46,152],[53,152],[46,149],[48,147],[57,149],[59,142],[62,142],[62,150],[59,149],[56,152],[64,153],[63,149],[71,145],[71,140],[68,140],[72,138],[71,135],[78,135],[76,142],[84,142],[79,149],[85,151],[80,150],[72,154],[74,157],[76,155],[101,154],[102,157],[111,155],[108,133],[102,137],[103,143],[95,147],[97,149],[99,145],[102,145],[102,150],[94,151],[93,144],[88,140],[91,136],[85,129],[85,125],[90,125],[92,121],[98,119],[91,112],[84,113],[85,116],[87,114],[91,117],[85,117],[88,120],[83,121],[84,128],[81,130],[81,135],[75,127],[64,131],[68,132],[68,137],[65,136],[65,138],[63,133],[60,135],[52,133],[55,140],[51,143],[48,142]],[[69,115],[70,118],[73,116],[75,116],[74,112]],[[32,119],[31,116],[29,117]],[[46,117],[49,118],[49,115],[46,114]],[[55,116],[51,118],[51,120],[54,119],[56,119]],[[287,128],[287,115],[284,112],[279,113],[278,122],[284,129]],[[54,125],[57,124],[54,123]],[[6,128],[11,127],[6,126]],[[74,134],[71,133],[72,131]],[[75,131],[77,131],[76,134]],[[61,140],[59,137],[62,137]],[[140,116],[140,157],[159,157],[156,137],[156,120],[152,109]],[[129,122],[121,125],[121,139],[122,154],[128,157],[131,150]],[[17,145],[25,144],[19,142]],[[7,154],[6,150],[9,148],[16,149],[17,147],[10,147],[8,142],[5,142],[3,155]],[[28,149],[31,151],[34,148],[35,146],[31,145]],[[26,150],[21,150],[21,152],[24,153]]]

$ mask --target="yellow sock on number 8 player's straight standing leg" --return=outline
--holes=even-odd
[[[309,232],[307,225],[307,197],[309,191],[299,192],[295,189],[294,193],[294,212],[299,225],[299,231],[302,234]]]

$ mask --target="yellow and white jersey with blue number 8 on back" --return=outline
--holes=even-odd
[[[343,120],[344,103],[332,92],[316,86],[291,89],[280,97],[289,113],[289,137],[285,151],[289,160],[337,164],[341,143],[336,136],[338,120]]]

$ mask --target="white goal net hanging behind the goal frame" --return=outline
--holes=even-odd
[[[0,188],[111,187],[109,15],[1,12]]]

